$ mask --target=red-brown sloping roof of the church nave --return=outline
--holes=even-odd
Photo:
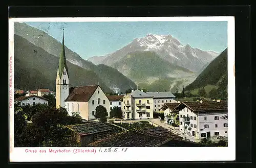
[[[65,102],[88,102],[99,85],[76,86]]]

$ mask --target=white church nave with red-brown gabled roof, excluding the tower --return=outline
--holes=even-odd
[[[87,121],[96,119],[96,107],[101,105],[106,108],[110,116],[110,101],[99,85],[76,86],[70,89],[70,94],[65,100],[65,108],[69,115],[78,112],[82,119]]]

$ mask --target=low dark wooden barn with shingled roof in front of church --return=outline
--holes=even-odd
[[[114,130],[110,126],[100,122],[90,122],[66,126],[73,133],[73,138],[80,142],[81,147],[86,147],[89,143],[103,139]]]

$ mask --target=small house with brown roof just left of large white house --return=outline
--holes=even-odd
[[[164,121],[166,124],[171,125],[174,123],[174,115],[179,114],[178,110],[174,110],[180,103],[164,103],[161,110],[164,111]]]

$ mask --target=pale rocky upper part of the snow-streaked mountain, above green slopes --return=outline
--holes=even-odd
[[[172,35],[147,34],[143,38],[134,39],[131,43],[106,56],[106,58],[97,63],[111,66],[128,53],[135,51],[154,51],[166,61],[192,71],[200,70],[205,64],[219,55],[214,51],[203,51],[193,48],[189,44],[182,45]]]

